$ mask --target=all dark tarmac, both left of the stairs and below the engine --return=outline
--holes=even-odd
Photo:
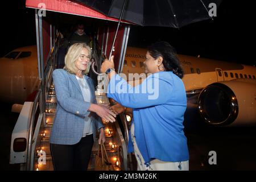
[[[19,170],[18,164],[9,164],[11,133],[18,114],[11,106],[1,104],[0,170]],[[256,170],[256,127],[208,127],[199,121],[185,122],[189,147],[190,170]],[[209,164],[210,151],[216,152],[216,163]]]

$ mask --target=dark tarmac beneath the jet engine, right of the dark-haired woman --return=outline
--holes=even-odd
[[[256,170],[256,126],[209,126],[195,109],[186,111],[184,126],[190,170]]]

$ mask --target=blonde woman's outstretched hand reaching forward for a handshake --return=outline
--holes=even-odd
[[[104,105],[91,104],[89,111],[93,111],[102,119],[109,122],[115,122],[115,117],[117,116],[113,111],[109,110],[108,107]]]

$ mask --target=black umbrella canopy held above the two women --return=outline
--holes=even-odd
[[[125,0],[76,1],[113,18],[120,17],[125,2]],[[209,11],[214,7],[217,8],[220,2],[221,0],[127,0],[122,19],[141,26],[180,28],[212,18],[209,16]]]

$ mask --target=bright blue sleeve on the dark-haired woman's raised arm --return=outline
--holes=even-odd
[[[108,97],[119,104],[134,109],[166,103],[171,96],[173,82],[159,78],[158,73],[148,76],[142,84],[129,85],[122,77],[115,75],[110,79]]]

